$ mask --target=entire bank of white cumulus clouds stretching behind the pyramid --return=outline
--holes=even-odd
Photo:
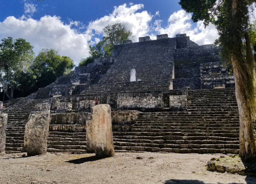
[[[27,3],[27,2],[25,2]],[[122,22],[127,29],[135,36],[133,42],[138,42],[138,37],[150,36],[156,39],[158,34],[168,34],[174,37],[176,34],[187,33],[190,39],[198,44],[213,43],[218,37],[213,25],[204,29],[202,22],[193,24],[191,15],[183,10],[174,12],[168,19],[165,27],[161,26],[163,20],[158,16],[159,12],[151,15],[147,11],[142,11],[143,4],[123,4],[114,7],[112,13],[89,22],[85,26],[82,22],[69,19],[65,24],[61,17],[45,15],[39,20],[32,19],[28,14],[33,15],[35,6],[26,6],[26,18],[7,17],[0,22],[0,39],[12,36],[14,38],[24,38],[34,46],[37,54],[41,49],[53,48],[59,51],[62,56],[69,56],[78,65],[81,58],[89,56],[87,42],[98,43],[103,34],[103,28],[108,24]],[[81,30],[85,30],[81,32]]]

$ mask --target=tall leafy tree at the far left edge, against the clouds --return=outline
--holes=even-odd
[[[20,73],[27,70],[33,56],[33,46],[25,39],[8,37],[0,43],[0,84],[9,99],[17,87]]]

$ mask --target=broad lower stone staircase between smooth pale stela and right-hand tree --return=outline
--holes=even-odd
[[[116,150],[238,154],[235,90],[189,90],[187,111],[143,113],[131,132],[113,138]]]

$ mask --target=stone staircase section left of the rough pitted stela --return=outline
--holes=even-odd
[[[42,103],[46,99],[34,100],[23,99],[5,109],[3,113],[8,114],[5,152],[17,153],[22,152],[24,144],[25,125],[28,121],[29,114],[35,110],[35,104]]]

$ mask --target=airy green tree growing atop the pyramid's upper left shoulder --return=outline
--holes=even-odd
[[[108,47],[120,45],[124,40],[133,38],[133,33],[126,28],[122,23],[116,23],[114,25],[108,25],[104,29],[104,36],[102,37]]]

